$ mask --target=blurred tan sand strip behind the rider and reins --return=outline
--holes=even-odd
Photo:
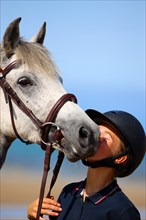
[[[18,168],[17,168],[18,169]],[[29,203],[35,199],[39,193],[42,172],[40,175],[32,175],[32,173],[26,170],[15,170],[9,172],[1,172],[1,203],[2,204],[23,204]],[[46,191],[49,188],[49,181],[51,176],[48,176]],[[52,191],[55,198],[59,195],[59,192],[64,185],[73,181],[80,181],[78,177],[58,177],[58,180]],[[146,205],[145,195],[146,186],[145,182],[138,179],[118,180],[119,185],[133,203],[144,208]]]

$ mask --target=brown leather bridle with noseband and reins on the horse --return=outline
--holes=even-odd
[[[16,137],[20,139],[22,142],[29,144],[29,141],[23,140],[20,135],[18,134],[18,131],[15,126],[15,121],[14,121],[14,112],[13,112],[13,105],[12,101],[23,111],[30,119],[31,121],[35,124],[35,126],[40,130],[41,133],[41,138],[42,141],[40,143],[41,147],[43,150],[45,150],[45,159],[44,159],[44,172],[43,172],[43,177],[42,177],[42,183],[41,183],[41,189],[40,189],[40,196],[39,196],[39,205],[38,205],[38,211],[37,211],[37,217],[36,219],[39,220],[40,212],[41,212],[41,207],[42,207],[42,201],[44,197],[44,191],[45,191],[45,185],[46,185],[46,180],[47,180],[47,174],[50,169],[50,158],[51,154],[53,152],[52,149],[52,142],[49,140],[49,131],[52,125],[56,126],[56,142],[57,144],[60,144],[60,141],[63,137],[60,128],[54,123],[56,116],[61,109],[61,107],[67,102],[67,101],[72,101],[77,103],[77,99],[73,94],[64,94],[52,107],[51,111],[49,112],[46,120],[44,123],[42,123],[35,115],[34,113],[27,108],[27,106],[23,103],[23,101],[18,97],[16,92],[12,89],[12,87],[9,85],[9,83],[6,81],[6,75],[14,68],[16,68],[17,65],[21,63],[21,60],[16,60],[11,62],[5,69],[2,69],[0,67],[0,87],[3,89],[4,96],[6,103],[9,104],[9,110],[10,110],[10,117],[11,117],[11,122],[12,122],[12,127],[13,130],[16,134]],[[51,190],[56,182],[61,164],[64,159],[64,154],[59,151],[58,155],[58,160],[56,162],[55,168],[53,170],[53,177],[50,183],[50,189],[47,194],[47,197],[50,197]]]

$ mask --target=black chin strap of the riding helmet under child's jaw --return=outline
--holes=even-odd
[[[123,166],[122,164],[116,164],[114,161],[122,156],[127,155],[129,149],[126,148],[123,152],[121,152],[118,155],[115,155],[113,157],[108,157],[102,160],[97,160],[97,161],[88,161],[86,159],[82,160],[82,163],[85,166],[91,167],[91,168],[97,168],[97,167],[113,167],[113,168],[118,168],[118,170],[122,170]]]

